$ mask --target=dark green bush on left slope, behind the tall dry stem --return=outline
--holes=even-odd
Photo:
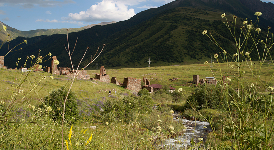
[[[68,89],[62,86],[60,89],[53,90],[50,95],[44,97],[44,103],[47,106],[51,106],[54,113],[52,113],[54,119],[62,119],[62,112],[64,107],[64,101],[67,96]],[[60,109],[60,110],[59,110]],[[73,119],[72,119],[73,117]],[[73,121],[80,118],[79,111],[77,110],[77,100],[75,93],[70,91],[66,100],[65,106],[65,120]],[[73,121],[74,122],[74,121]]]

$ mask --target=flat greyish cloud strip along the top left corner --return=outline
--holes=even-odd
[[[64,1],[56,1],[56,0],[1,0],[0,6],[4,4],[17,5],[22,6],[22,8],[33,8],[35,6],[40,7],[56,7],[62,6],[68,3],[75,3],[73,0],[64,0]]]

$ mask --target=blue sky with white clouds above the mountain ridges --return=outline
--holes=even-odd
[[[21,31],[123,21],[173,0],[0,0],[0,21]],[[274,0],[262,0],[272,2]]]

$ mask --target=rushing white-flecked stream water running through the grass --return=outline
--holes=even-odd
[[[166,149],[185,149],[187,146],[191,145],[191,139],[198,143],[200,141],[199,138],[205,140],[206,135],[212,131],[210,124],[205,121],[189,121],[187,119],[174,120],[183,121],[187,129],[183,135],[178,136],[175,139],[166,139],[164,144]]]

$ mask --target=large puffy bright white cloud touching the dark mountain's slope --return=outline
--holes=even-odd
[[[92,5],[87,11],[80,11],[79,13],[69,13],[68,17],[62,17],[63,20],[75,21],[122,21],[136,15],[134,9],[128,9],[124,3],[103,0],[97,5]]]

